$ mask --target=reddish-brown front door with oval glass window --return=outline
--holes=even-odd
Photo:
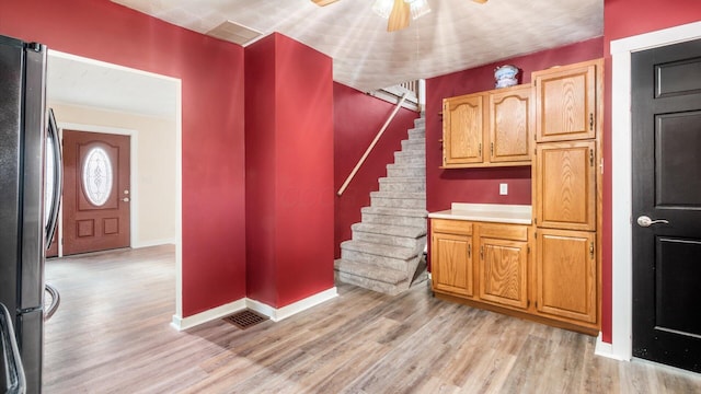
[[[64,255],[129,246],[129,137],[64,130]]]

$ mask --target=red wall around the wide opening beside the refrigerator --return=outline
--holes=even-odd
[[[183,316],[244,297],[243,49],[107,0],[0,0],[0,34],[182,79]]]

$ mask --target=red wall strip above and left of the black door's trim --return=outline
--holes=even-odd
[[[698,0],[605,0],[606,61],[604,161],[611,163],[611,40],[701,21]],[[601,339],[611,343],[611,166],[604,167],[602,324]]]

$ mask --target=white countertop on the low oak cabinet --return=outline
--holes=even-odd
[[[453,219],[470,221],[489,221],[497,223],[530,224],[532,222],[531,206],[501,204],[463,204],[452,202],[451,209],[430,212],[432,219]]]

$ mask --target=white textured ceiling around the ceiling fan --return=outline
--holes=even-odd
[[[334,80],[361,91],[430,78],[604,34],[604,0],[428,0],[433,11],[388,33],[372,0],[112,0],[207,33],[229,20],[279,32],[333,58]]]

